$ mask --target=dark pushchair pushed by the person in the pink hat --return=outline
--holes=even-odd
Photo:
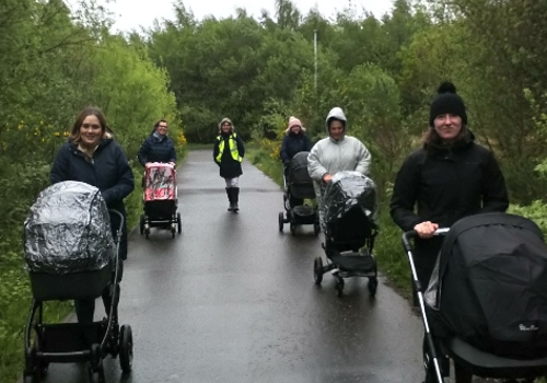
[[[284,170],[283,205],[286,213],[279,213],[280,232],[283,231],[284,223],[290,224],[292,235],[296,234],[296,227],[301,224],[313,224],[315,234],[321,232],[317,208],[302,204],[304,199],[315,199],[313,181],[307,173],[309,153],[294,154],[289,166]],[[300,204],[296,204],[295,200],[300,200]]]

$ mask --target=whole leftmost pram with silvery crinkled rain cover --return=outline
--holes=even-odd
[[[110,214],[119,217],[116,237]],[[101,192],[63,182],[43,190],[24,227],[24,256],[33,301],[25,328],[24,382],[39,382],[49,363],[89,362],[90,382],[104,383],[103,360],[119,357],[131,370],[131,327],[118,324],[118,257],[124,216],[107,210]],[[91,323],[44,323],[44,302],[107,297],[107,317]],[[106,304],[105,304],[106,305]]]

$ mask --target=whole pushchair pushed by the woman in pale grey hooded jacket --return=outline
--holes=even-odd
[[[340,172],[333,177],[323,193],[327,265],[323,266],[322,257],[315,258],[316,285],[333,270],[338,295],[344,291],[344,278],[351,277],[369,278],[369,293],[375,295],[377,269],[372,251],[379,233],[376,213],[376,187],[371,178],[358,172]]]

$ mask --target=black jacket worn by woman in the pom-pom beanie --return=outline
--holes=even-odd
[[[389,208],[395,223],[409,231],[424,221],[447,228],[463,217],[508,206],[505,179],[492,153],[469,140],[411,153],[397,174]]]

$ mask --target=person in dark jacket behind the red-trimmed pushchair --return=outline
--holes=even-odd
[[[167,137],[167,121],[160,119],[154,124],[154,130],[142,142],[137,154],[139,162],[146,166],[149,162],[163,162],[176,165],[176,151],[173,140]]]

